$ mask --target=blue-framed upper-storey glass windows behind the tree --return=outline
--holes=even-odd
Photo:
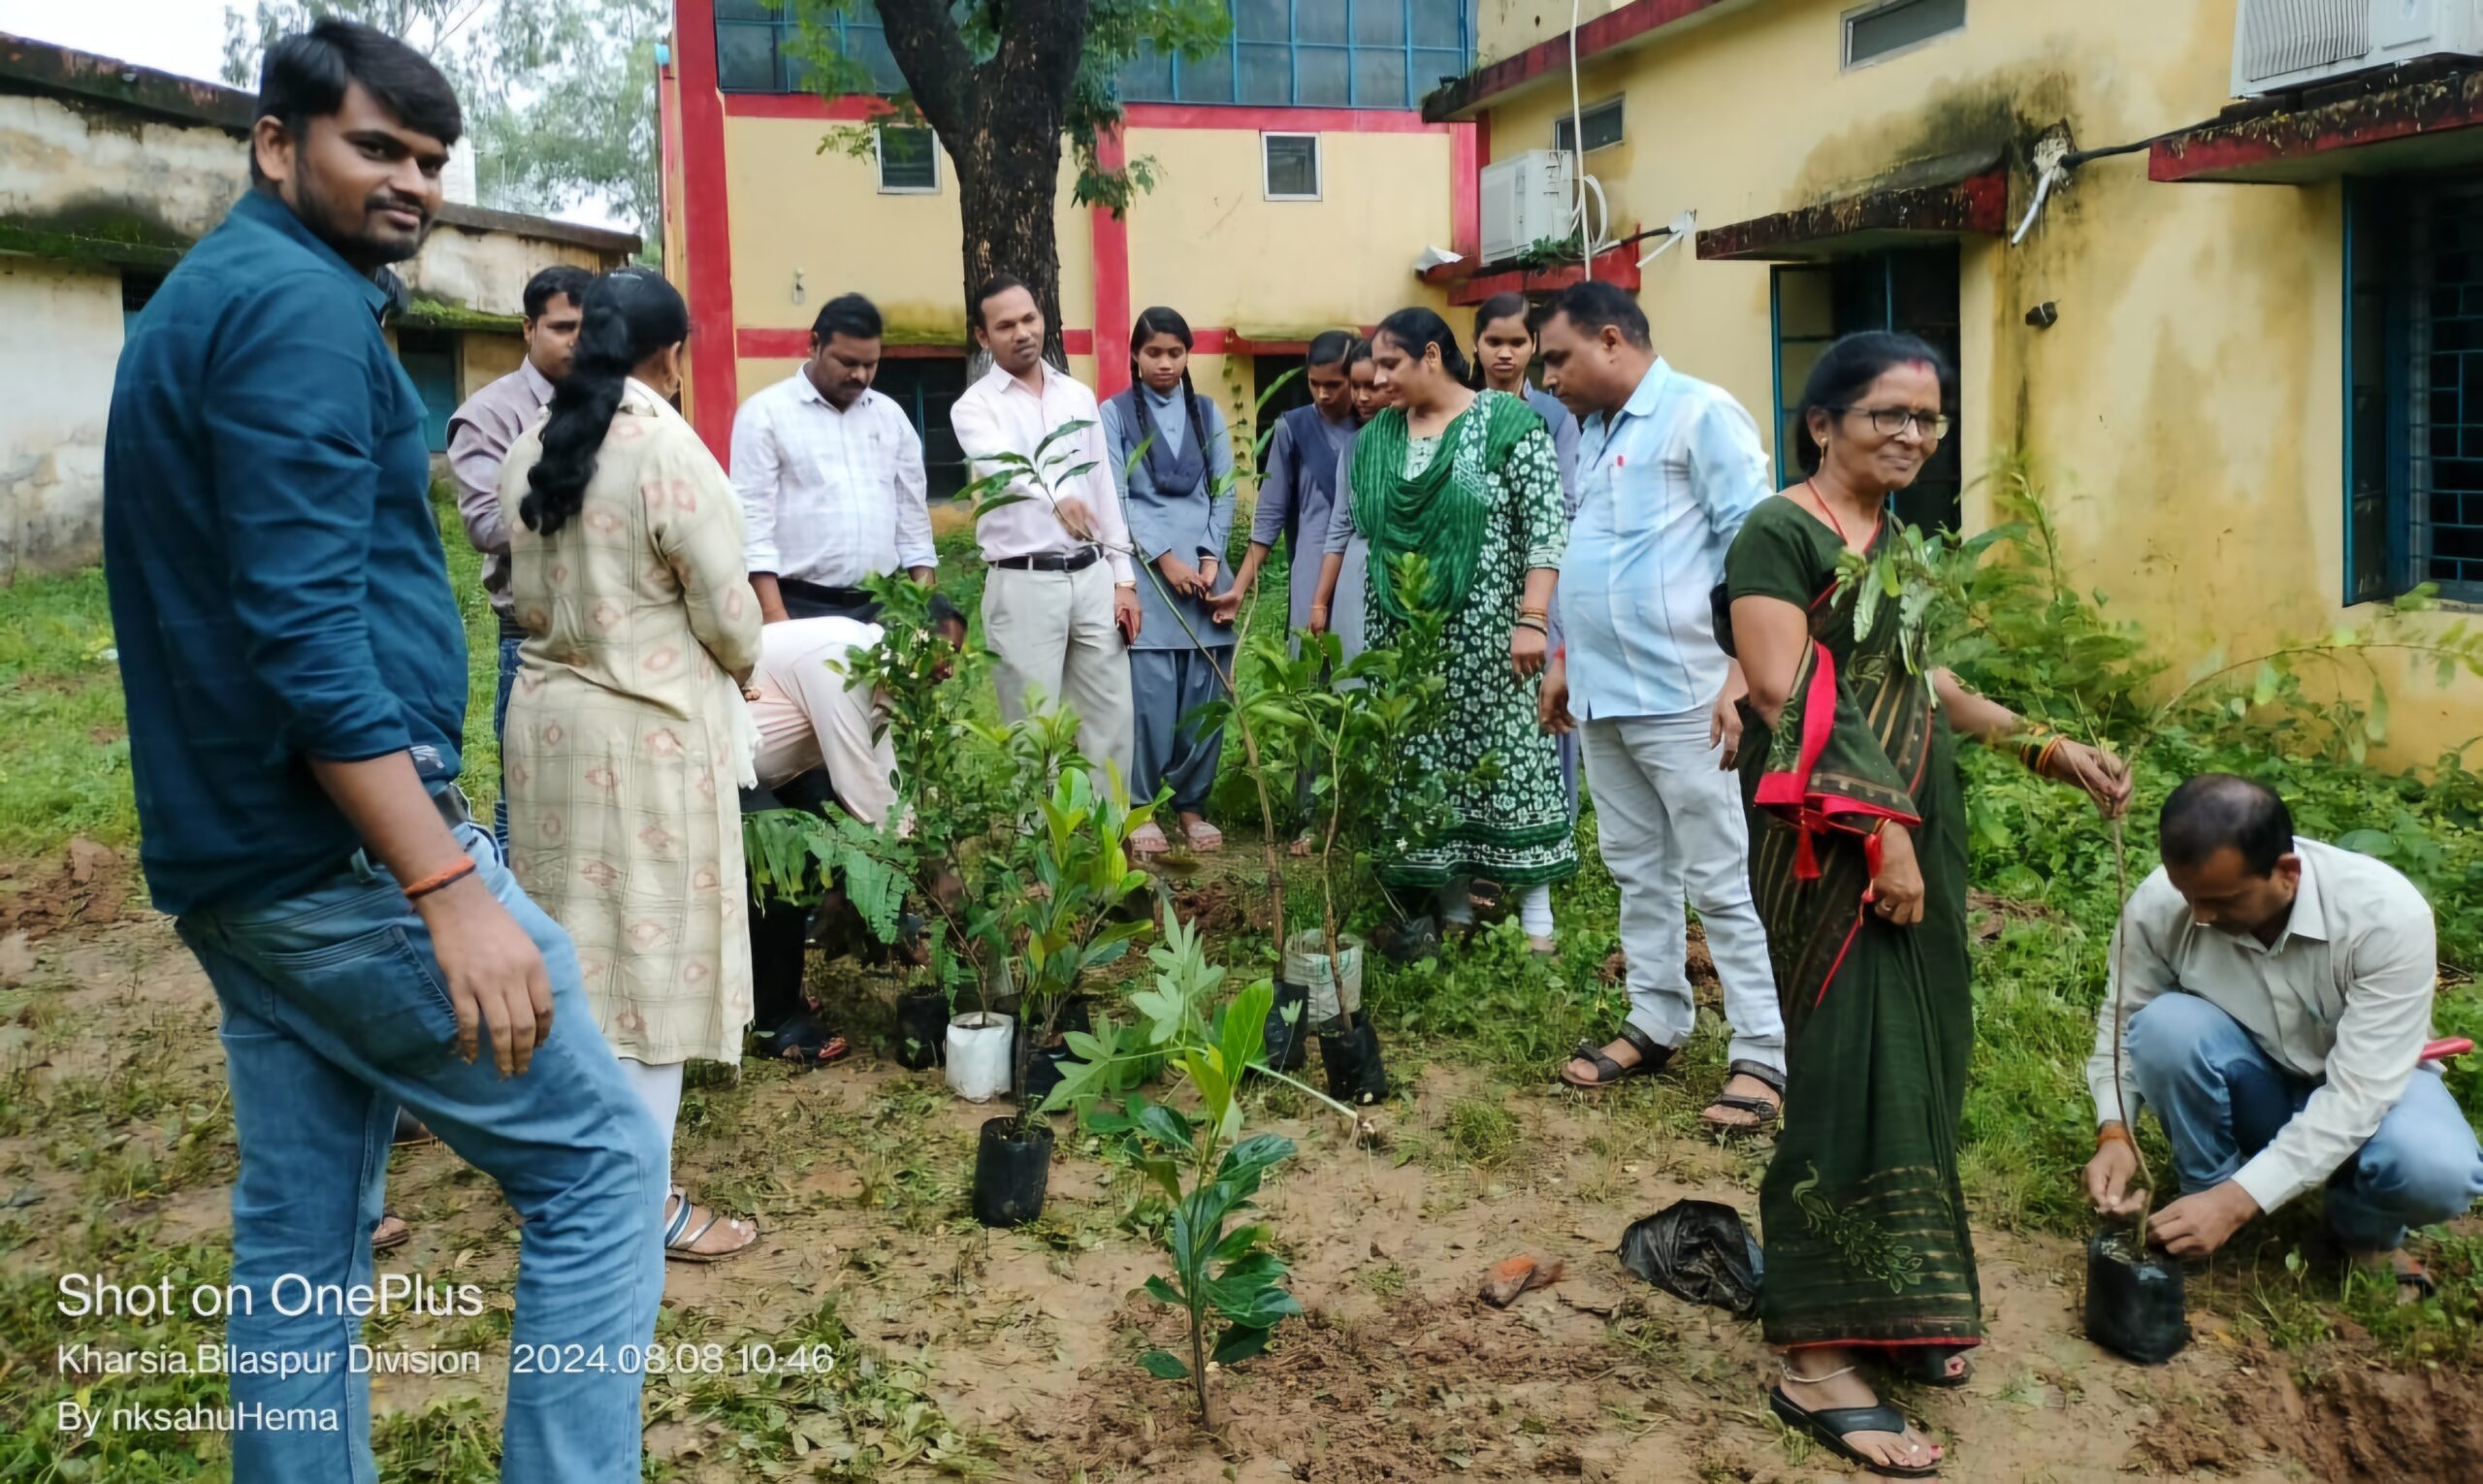
[[[1140,52],[1120,72],[1122,102],[1410,109],[1475,60],[1475,0],[1229,0],[1232,40],[1207,57]],[[834,20],[839,50],[879,92],[904,89],[879,30],[857,5]],[[715,2],[715,65],[725,92],[802,92],[795,20],[767,0]]]

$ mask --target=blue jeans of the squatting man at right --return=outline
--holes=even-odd
[[[2232,1179],[2319,1087],[2272,1062],[2240,1020],[2197,995],[2165,995],[2130,1015],[2128,1057],[2173,1142],[2183,1194]],[[2327,1221],[2349,1248],[2391,1251],[2409,1226],[2453,1221],[2478,1196],[2476,1132],[2438,1072],[2421,1067],[2361,1154],[2329,1176]]]

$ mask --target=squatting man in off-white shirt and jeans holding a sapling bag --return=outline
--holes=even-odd
[[[2165,864],[2113,943],[2125,1027],[2108,990],[2086,1065],[2101,1124],[2088,1196],[2108,1216],[2138,1211],[2123,1119],[2143,1102],[2183,1189],[2148,1231],[2175,1256],[2212,1253],[2327,1186],[2339,1243],[2428,1290],[2406,1228],[2483,1196],[2473,1127],[2423,1062],[2431,906],[2389,866],[2297,839],[2284,799],[2232,774],[2173,789],[2160,836]]]

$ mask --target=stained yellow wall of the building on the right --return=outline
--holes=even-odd
[[[2024,161],[2063,119],[2088,149],[2227,102],[2232,0],[1979,2],[1962,32],[1850,72],[1845,10],[1753,5],[1589,65],[1589,104],[1626,97],[1626,141],[1587,156],[1614,218],[1696,208],[1726,226],[1989,144]],[[1549,144],[1567,99],[1544,87],[1492,109],[1492,154]],[[2091,161],[2024,246],[1964,246],[1957,437],[1969,476],[1999,449],[2039,459],[2076,581],[2163,650],[2260,653],[2344,613],[2344,191],[2145,169],[2145,154]],[[2026,199],[2019,166],[2011,223]],[[1639,303],[1656,347],[1726,385],[1773,444],[1768,283],[1765,263],[1703,263],[1683,243],[1646,268]],[[2034,330],[2044,300],[2061,318]],[[1989,519],[1989,491],[1967,491],[1967,519]],[[2473,677],[2391,682],[2391,757],[2428,762],[2483,730]]]

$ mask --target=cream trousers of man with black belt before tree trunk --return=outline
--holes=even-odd
[[[1016,722],[1058,702],[1078,712],[1078,752],[1130,782],[1130,650],[1112,625],[1112,563],[1080,571],[996,566],[983,581],[983,648]]]

